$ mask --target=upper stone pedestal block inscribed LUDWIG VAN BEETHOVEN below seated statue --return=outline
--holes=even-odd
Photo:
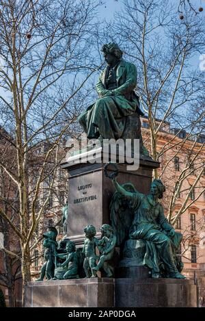
[[[90,162],[86,162],[88,156]],[[110,224],[109,205],[115,189],[111,179],[105,176],[103,156],[105,157],[105,153],[100,148],[72,156],[68,162],[61,164],[69,174],[67,235],[80,247],[84,240],[83,228],[87,224],[93,224],[96,231],[99,231],[102,224]],[[109,157],[110,154],[107,158]],[[129,181],[139,192],[148,194],[152,169],[159,167],[158,162],[149,158],[140,159],[138,170],[127,170],[128,164],[117,165],[119,183]],[[97,233],[97,237],[98,235],[100,233]]]

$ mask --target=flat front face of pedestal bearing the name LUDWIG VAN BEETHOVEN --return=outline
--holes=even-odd
[[[102,172],[70,177],[68,237],[82,235],[87,224],[98,230],[102,224]]]

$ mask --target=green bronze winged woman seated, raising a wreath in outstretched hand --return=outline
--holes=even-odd
[[[131,183],[120,185],[115,177],[112,181],[118,192],[111,205],[111,220],[117,233],[118,246],[124,246],[124,241],[128,239],[146,241],[143,265],[152,270],[152,277],[184,279],[180,274],[182,264],[176,257],[182,234],[174,231],[172,224],[165,218],[163,206],[159,203],[159,198],[162,198],[165,192],[163,183],[154,180],[150,194],[145,195],[135,190]],[[123,207],[126,209],[121,216],[118,211],[119,204],[122,204],[121,211]],[[127,217],[129,215],[132,222]],[[129,248],[131,244],[133,242],[126,241],[126,251],[134,251],[133,248]]]

